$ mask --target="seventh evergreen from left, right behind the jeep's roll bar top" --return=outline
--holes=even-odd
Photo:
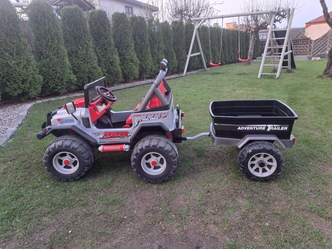
[[[162,33],[159,26],[159,20],[153,21],[152,19],[147,20],[147,28],[149,33],[149,43],[152,55],[152,69],[151,75],[155,75],[159,72],[159,64],[164,54],[164,42]]]

